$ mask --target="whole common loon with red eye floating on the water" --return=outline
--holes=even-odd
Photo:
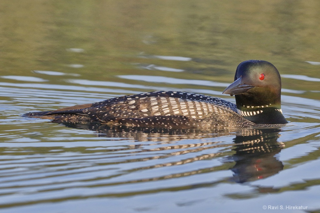
[[[274,65],[244,61],[238,65],[234,80],[223,94],[235,95],[236,104],[207,95],[155,91],[22,116],[63,123],[168,129],[236,130],[288,123],[281,110],[281,78]]]

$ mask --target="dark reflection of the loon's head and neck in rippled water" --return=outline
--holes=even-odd
[[[283,143],[277,142],[278,132],[278,129],[251,130],[249,134],[236,136],[236,154],[231,156],[236,162],[231,168],[235,182],[263,179],[283,169],[282,162],[275,156],[284,148]]]

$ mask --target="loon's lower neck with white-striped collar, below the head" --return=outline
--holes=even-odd
[[[237,106],[237,112],[255,124],[286,124],[280,105]]]

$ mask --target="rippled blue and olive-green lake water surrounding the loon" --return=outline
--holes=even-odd
[[[320,211],[319,1],[0,8],[0,212]],[[154,90],[235,103],[222,91],[248,59],[278,68],[286,126],[128,130],[20,117]]]

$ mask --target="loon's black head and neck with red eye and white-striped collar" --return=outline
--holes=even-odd
[[[223,93],[235,95],[238,113],[256,124],[288,123],[281,110],[280,74],[267,61],[249,60],[240,63],[235,82]]]

